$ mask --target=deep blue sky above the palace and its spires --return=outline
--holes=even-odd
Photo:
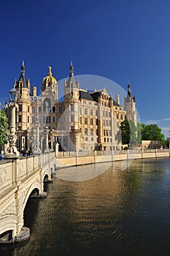
[[[0,102],[23,60],[39,91],[49,65],[62,80],[73,61],[75,75],[101,76],[125,91],[130,81],[140,121],[158,124],[168,137],[169,12],[169,0],[2,1]],[[94,89],[90,82],[85,87]],[[108,92],[115,98],[114,88]]]

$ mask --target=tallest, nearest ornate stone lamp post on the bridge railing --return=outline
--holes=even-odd
[[[15,121],[15,109],[16,101],[18,97],[18,91],[13,88],[9,91],[9,110],[10,110],[10,120],[9,120],[9,147],[7,152],[4,154],[6,159],[17,159],[20,156],[20,152],[16,147],[16,121]]]

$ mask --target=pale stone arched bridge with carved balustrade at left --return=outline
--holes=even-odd
[[[49,152],[0,162],[0,243],[29,237],[23,219],[28,197],[45,196],[44,181],[52,178],[55,161],[55,152]]]

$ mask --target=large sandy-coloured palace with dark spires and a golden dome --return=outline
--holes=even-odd
[[[58,100],[58,82],[49,67],[48,75],[42,80],[41,94],[37,95],[36,86],[31,88],[30,81],[26,80],[22,64],[20,78],[15,80],[18,151],[26,148],[44,152],[53,149],[56,143],[59,151],[121,149],[122,145],[116,140],[121,121],[128,118],[137,124],[136,99],[131,95],[130,84],[124,108],[119,95],[115,100],[105,88],[80,89],[72,63],[63,86],[64,96]],[[9,117],[7,101],[4,110]]]

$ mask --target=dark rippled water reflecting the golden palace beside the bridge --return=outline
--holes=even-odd
[[[30,239],[0,246],[0,255],[170,255],[170,159],[120,165],[77,167],[82,175],[107,169],[84,181],[72,181],[75,167],[57,170],[47,198],[26,205]]]

